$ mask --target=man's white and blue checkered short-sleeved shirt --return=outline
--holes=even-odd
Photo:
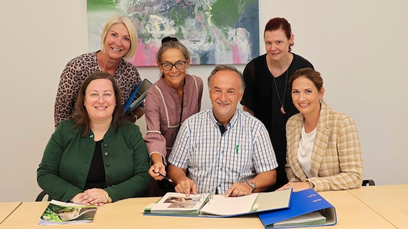
[[[168,159],[188,169],[197,193],[225,194],[234,183],[277,167],[268,131],[257,118],[237,109],[223,134],[219,125],[212,108],[186,119]]]

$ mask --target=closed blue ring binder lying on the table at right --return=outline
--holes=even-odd
[[[290,207],[287,209],[258,213],[258,216],[261,222],[264,224],[265,228],[271,228],[273,227],[273,223],[315,211],[319,211],[324,217],[326,217],[326,223],[313,226],[335,225],[337,223],[335,207],[328,203],[313,189],[306,189],[303,191],[292,193]]]

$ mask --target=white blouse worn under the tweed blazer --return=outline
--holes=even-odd
[[[310,133],[306,133],[304,130],[304,124],[302,127],[302,133],[299,140],[299,148],[297,149],[297,161],[303,169],[303,173],[308,177],[313,177],[312,174],[312,151],[315,144],[316,129]]]

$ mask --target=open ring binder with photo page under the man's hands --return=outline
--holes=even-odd
[[[186,197],[169,192],[157,203],[145,207],[146,215],[180,215],[202,217],[232,217],[256,212],[289,208],[292,189],[252,193],[240,197],[225,197],[202,193]]]

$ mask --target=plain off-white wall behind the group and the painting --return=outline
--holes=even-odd
[[[408,3],[375,0],[260,0],[263,30],[285,17],[293,52],[323,75],[325,100],[358,125],[365,179],[407,184],[405,60]],[[0,202],[34,201],[36,169],[54,131],[54,99],[65,64],[88,52],[85,0],[4,1],[0,8]],[[191,66],[206,81],[214,66]],[[243,70],[245,65],[237,65]],[[158,69],[139,67],[157,80]],[[205,86],[202,108],[211,102]],[[145,129],[144,119],[138,124]],[[142,132],[145,132],[144,130]]]

